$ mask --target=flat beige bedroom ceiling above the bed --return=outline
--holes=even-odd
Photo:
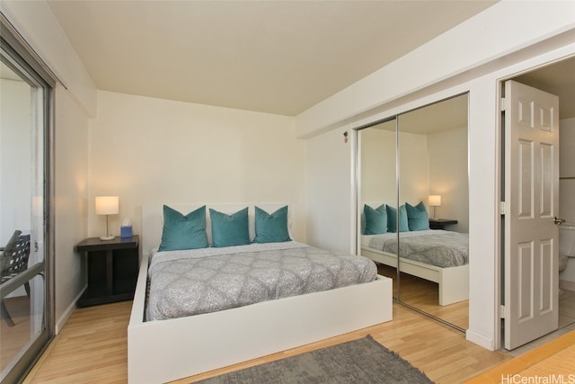
[[[48,3],[98,89],[295,116],[496,2]]]

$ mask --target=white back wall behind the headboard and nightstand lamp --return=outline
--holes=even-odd
[[[305,141],[293,118],[99,91],[89,153],[90,236],[105,231],[94,196],[112,194],[116,235],[123,218],[141,234],[146,204],[285,201],[305,241]]]

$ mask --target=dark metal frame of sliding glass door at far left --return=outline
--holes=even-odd
[[[55,335],[55,312],[54,312],[54,213],[52,201],[53,190],[53,127],[54,127],[54,87],[55,76],[41,61],[38,55],[23,40],[22,36],[13,28],[0,13],[2,27],[1,55],[2,61],[10,67],[14,73],[22,77],[22,80],[31,85],[32,99],[36,102],[31,109],[31,121],[34,121],[34,129],[31,136],[32,147],[36,148],[35,162],[32,164],[31,179],[35,181],[31,185],[31,221],[37,220],[40,225],[31,224],[31,229],[37,227],[36,238],[32,239],[31,250],[40,249],[42,255],[37,257],[36,263],[10,281],[6,281],[2,287],[2,296],[9,294],[25,282],[32,281],[40,276],[43,284],[43,305],[40,321],[37,320],[39,332],[31,334],[26,349],[18,353],[15,359],[6,366],[2,372],[2,382],[22,382],[26,374],[33,367],[41,353],[48,347],[49,342]],[[32,201],[35,201],[32,203]],[[31,260],[33,257],[31,256]],[[32,288],[32,287],[31,287]],[[31,295],[33,296],[33,295]],[[31,326],[33,329],[34,326]]]

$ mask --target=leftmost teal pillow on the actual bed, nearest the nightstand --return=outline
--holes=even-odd
[[[164,228],[159,251],[197,249],[208,246],[206,235],[206,206],[182,215],[164,205]]]

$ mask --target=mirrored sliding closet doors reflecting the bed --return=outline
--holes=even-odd
[[[467,94],[360,129],[358,142],[358,243],[361,255],[376,261],[380,274],[394,279],[394,297],[400,302],[457,328],[467,329]],[[434,206],[429,204],[430,195],[436,196],[431,201]],[[437,196],[440,196],[440,205],[437,205],[438,201],[434,202]],[[382,249],[383,241],[371,246],[367,243],[366,205],[373,217],[377,214],[372,210],[385,210],[388,214],[385,249]],[[382,205],[386,208],[382,209]],[[405,210],[411,211],[409,218]],[[436,221],[434,217],[444,220]],[[399,234],[397,228],[393,228],[398,225]],[[382,230],[377,228],[376,232]],[[403,257],[406,252],[428,252],[423,249],[425,245],[433,248],[431,238],[444,231],[460,237],[457,240],[460,244],[455,245],[460,250],[454,251],[447,241],[438,240],[435,246],[445,246],[445,250],[432,249],[430,255],[415,255],[414,260]],[[430,237],[424,237],[427,235]],[[412,246],[408,237],[417,237],[419,240],[410,241],[420,244]],[[418,250],[419,246],[423,247],[422,251]],[[396,269],[398,247],[402,255],[399,274]],[[451,255],[452,251],[454,255]],[[457,255],[459,251],[461,255]],[[445,255],[445,261],[432,265],[433,254],[450,255]],[[451,262],[454,264],[447,264]]]

